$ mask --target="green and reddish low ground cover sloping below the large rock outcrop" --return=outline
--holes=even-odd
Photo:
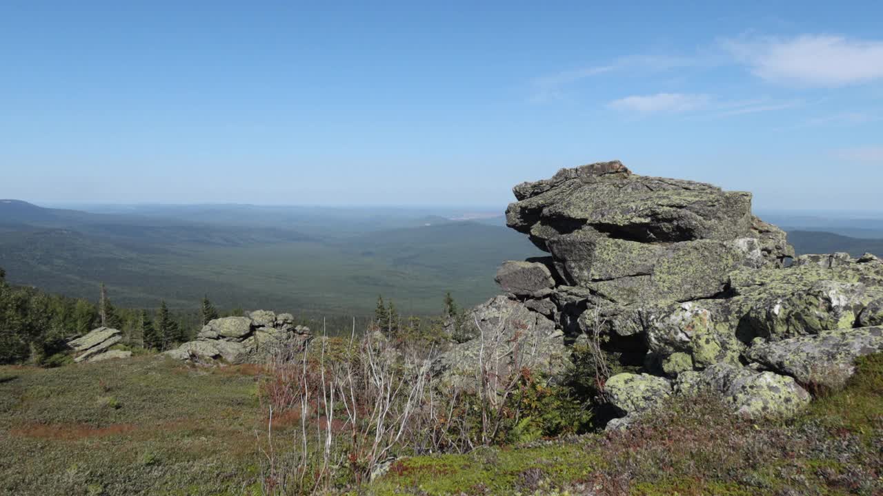
[[[371,493],[753,496],[883,494],[883,355],[788,424],[712,399],[672,402],[628,432],[396,462]]]

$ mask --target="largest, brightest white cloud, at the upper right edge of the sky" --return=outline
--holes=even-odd
[[[722,41],[761,79],[803,86],[847,86],[883,79],[883,41],[804,34]]]

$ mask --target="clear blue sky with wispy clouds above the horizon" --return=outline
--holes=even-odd
[[[7,0],[0,198],[496,207],[620,159],[883,210],[883,3],[661,4]]]

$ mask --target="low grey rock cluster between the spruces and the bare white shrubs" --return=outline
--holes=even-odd
[[[310,329],[296,326],[291,313],[267,310],[243,317],[224,317],[208,322],[196,340],[185,342],[165,354],[178,360],[223,360],[229,364],[258,362],[277,350],[298,350],[312,337]]]

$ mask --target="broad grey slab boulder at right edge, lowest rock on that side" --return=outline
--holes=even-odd
[[[840,388],[855,372],[857,357],[879,352],[883,352],[883,327],[861,327],[826,330],[779,342],[758,340],[747,355],[802,384]]]

